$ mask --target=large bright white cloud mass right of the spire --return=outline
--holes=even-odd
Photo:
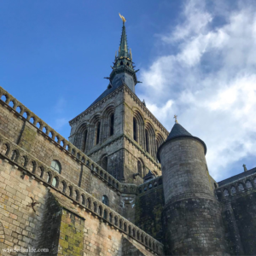
[[[256,7],[247,1],[225,6],[215,26],[221,1],[212,10],[206,3],[188,1],[182,23],[162,35],[166,49],[173,45],[177,52],[143,70],[141,97],[169,130],[176,113],[207,143],[210,172],[220,180],[236,161],[256,155]]]

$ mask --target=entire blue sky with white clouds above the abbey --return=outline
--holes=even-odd
[[[242,0],[0,1],[0,86],[68,138],[108,86],[125,16],[136,93],[207,144],[217,181],[256,166],[256,5]]]

